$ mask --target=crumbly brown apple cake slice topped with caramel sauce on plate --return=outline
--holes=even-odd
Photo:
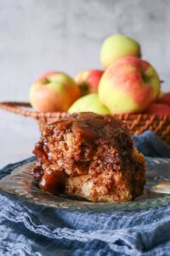
[[[42,131],[34,154],[39,187],[88,201],[131,201],[144,189],[144,156],[111,115],[75,113]]]

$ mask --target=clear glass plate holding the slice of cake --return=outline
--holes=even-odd
[[[38,188],[37,183],[31,175],[31,170],[36,161],[17,167],[6,177],[0,180],[0,189],[13,195],[17,195],[26,201],[43,205],[46,207],[55,207],[69,210],[82,211],[132,211],[136,209],[145,209],[167,205],[170,203],[170,195],[151,193],[150,187],[162,180],[170,179],[170,159],[149,158],[146,157],[147,172],[144,194],[134,201],[125,203],[104,203],[90,202],[69,198],[66,195],[51,195],[48,192]]]

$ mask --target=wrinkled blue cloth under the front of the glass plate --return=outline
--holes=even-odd
[[[0,178],[33,159],[5,166]],[[1,191],[0,255],[170,255],[170,205],[133,212],[71,212]]]

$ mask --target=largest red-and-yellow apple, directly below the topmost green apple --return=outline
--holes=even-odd
[[[111,113],[142,112],[159,93],[154,67],[132,56],[113,62],[99,82],[99,99]]]

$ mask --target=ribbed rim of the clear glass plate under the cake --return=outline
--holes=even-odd
[[[151,164],[170,164],[170,159],[167,158],[151,158],[151,157],[145,157],[146,160],[146,165],[151,162]],[[39,201],[38,198],[32,198],[32,197],[27,197],[26,194],[20,193],[20,189],[9,189],[7,186],[3,183],[4,179],[6,178],[11,178],[14,177],[14,173],[16,176],[16,172],[20,172],[23,167],[31,165],[33,162],[35,162],[35,159],[31,159],[27,163],[22,163],[20,166],[15,166],[14,169],[11,170],[9,174],[7,174],[5,177],[2,177],[0,179],[0,189],[3,190],[4,192],[10,194],[10,195],[15,195],[17,198],[22,199],[26,201],[26,203],[33,203],[38,206],[43,206],[43,207],[53,207],[55,209],[62,209],[62,210],[69,210],[69,211],[94,211],[94,212],[106,212],[106,211],[133,211],[133,210],[144,210],[148,209],[150,207],[158,207],[158,206],[165,206],[170,203],[170,195],[167,194],[162,194],[165,195],[164,197],[160,198],[149,198],[146,201],[128,201],[128,202],[122,202],[122,203],[107,203],[107,202],[90,202],[88,201],[81,201],[82,205],[77,206],[75,205],[77,203],[76,200],[71,200],[69,201],[74,202],[75,204],[70,204],[69,201],[66,201],[68,206],[65,206],[65,203],[63,205],[60,205],[60,202],[54,201],[53,203],[48,204],[47,201]],[[23,174],[22,174],[23,175]],[[20,177],[22,177],[20,175]],[[28,174],[30,176],[31,180],[33,181],[33,176],[31,175],[31,172]],[[17,177],[17,176],[16,176]],[[17,191],[18,190],[18,191]],[[39,189],[40,190],[40,189]],[[46,191],[40,190],[38,192],[42,193],[43,195],[48,195],[48,196],[53,196],[54,199],[61,199],[58,195],[52,195]],[[157,194],[157,193],[155,193]],[[159,194],[160,195],[160,194]],[[63,198],[62,198],[63,199]],[[157,202],[157,204],[155,204]],[[57,205],[56,205],[57,203]],[[63,202],[61,202],[63,203]]]

